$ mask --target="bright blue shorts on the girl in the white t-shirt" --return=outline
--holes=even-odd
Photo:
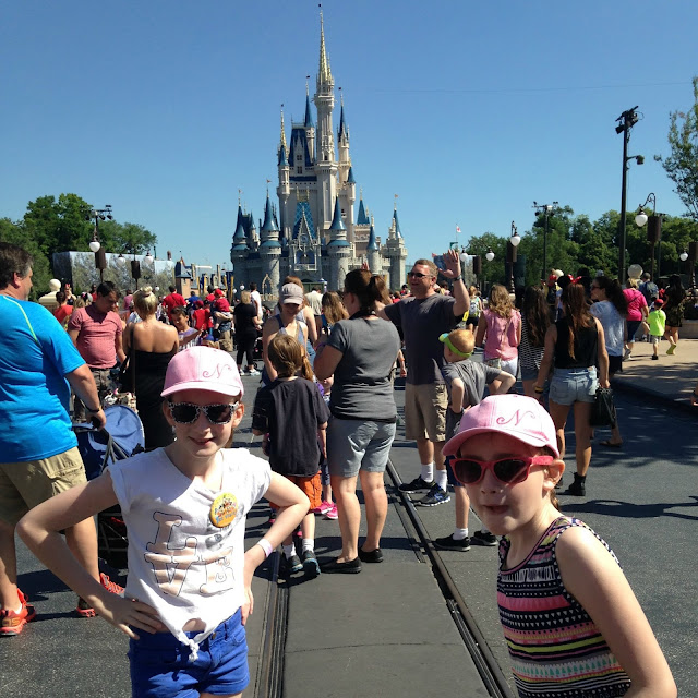
[[[134,698],[196,698],[242,693],[250,683],[248,642],[242,613],[224,621],[198,646],[198,658],[189,661],[190,648],[171,633],[141,633],[129,640],[131,689]],[[194,638],[198,633],[186,633]]]

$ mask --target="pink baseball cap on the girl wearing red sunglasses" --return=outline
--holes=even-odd
[[[514,436],[525,444],[550,448],[559,458],[555,424],[545,408],[524,395],[492,395],[480,405],[466,410],[460,431],[444,445],[444,456],[455,456],[476,434],[500,433]]]

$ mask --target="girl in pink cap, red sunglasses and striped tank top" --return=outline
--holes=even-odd
[[[565,469],[555,425],[533,398],[467,410],[444,446],[500,542],[497,603],[521,698],[651,696],[676,685],[609,545],[554,495]]]

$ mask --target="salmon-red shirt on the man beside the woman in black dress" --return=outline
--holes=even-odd
[[[77,351],[91,369],[111,369],[117,362],[117,337],[121,318],[113,311],[100,313],[95,305],[79,308],[68,321],[68,332],[76,329]]]

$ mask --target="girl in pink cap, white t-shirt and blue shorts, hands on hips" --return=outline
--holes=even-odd
[[[240,696],[249,683],[244,624],[256,567],[300,524],[308,497],[243,448],[227,448],[244,413],[230,354],[176,354],[163,410],[177,440],[109,466],[37,506],[17,531],[98,615],[128,635],[133,696]],[[281,507],[244,551],[245,517],[262,497]],[[124,598],[77,564],[59,531],[119,504],[129,533]]]

